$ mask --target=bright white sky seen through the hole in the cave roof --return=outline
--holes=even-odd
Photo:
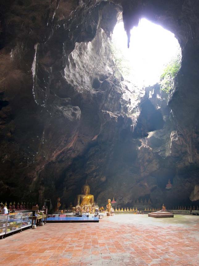
[[[137,86],[149,86],[159,82],[165,66],[180,49],[172,32],[147,19],[141,19],[138,27],[131,29],[129,49],[123,22],[116,24],[112,41],[129,61],[130,75],[124,78],[130,79]]]

